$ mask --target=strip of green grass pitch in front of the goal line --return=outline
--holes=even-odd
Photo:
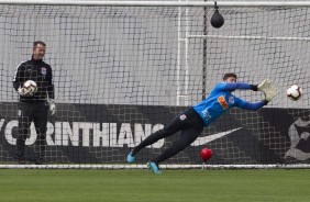
[[[1,169],[1,202],[309,202],[309,169]]]

